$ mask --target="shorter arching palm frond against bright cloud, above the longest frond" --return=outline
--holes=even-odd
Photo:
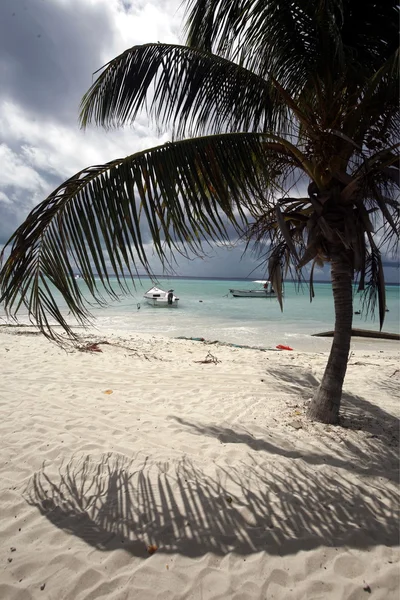
[[[270,84],[251,71],[169,44],[134,46],[105,65],[82,99],[80,120],[118,127],[142,109],[178,136],[267,131],[288,118]]]

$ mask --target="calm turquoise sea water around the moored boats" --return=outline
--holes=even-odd
[[[78,280],[82,291],[85,283]],[[171,337],[185,336],[218,340],[233,344],[274,347],[290,345],[295,349],[324,351],[330,338],[313,338],[313,333],[332,330],[333,297],[330,284],[315,284],[315,297],[310,303],[306,285],[298,289],[294,283],[284,286],[284,310],[269,298],[233,298],[230,288],[254,288],[257,284],[243,280],[159,278],[162,289],[174,289],[180,298],[178,308],[154,308],[143,298],[153,283],[141,278],[130,283],[131,295],[121,296],[108,307],[92,307],[94,325],[101,331],[143,332]],[[387,286],[387,308],[384,331],[399,333],[400,288]],[[59,304],[63,300],[59,297]],[[354,296],[354,311],[361,309],[359,294]],[[26,322],[21,315],[21,322]],[[354,315],[353,327],[379,330],[378,315]]]

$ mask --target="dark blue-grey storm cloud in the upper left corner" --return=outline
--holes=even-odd
[[[0,2],[0,98],[38,118],[77,120],[113,26],[104,4]]]

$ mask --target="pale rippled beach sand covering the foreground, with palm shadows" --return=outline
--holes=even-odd
[[[0,598],[398,599],[398,345],[329,427],[325,353],[102,341],[0,328]]]

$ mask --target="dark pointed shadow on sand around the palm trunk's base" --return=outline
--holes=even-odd
[[[311,373],[292,366],[290,369],[272,369],[268,374],[274,378],[275,389],[281,389],[286,397],[292,396],[296,402],[307,401],[319,385]],[[304,402],[303,409],[306,404]],[[264,427],[254,424],[244,429],[237,425],[232,429],[224,425],[193,423],[179,417],[171,419],[196,435],[214,437],[223,444],[246,444],[256,452],[299,459],[309,465],[326,464],[361,476],[399,481],[399,419],[353,394],[343,394],[340,425],[330,428],[334,435],[324,435],[323,430],[318,432],[317,449],[312,443],[307,445],[304,439],[299,446],[298,435],[292,433],[290,427],[283,434],[275,427],[268,427],[268,423]],[[313,428],[306,418],[303,425]],[[315,437],[315,431],[313,433]]]

